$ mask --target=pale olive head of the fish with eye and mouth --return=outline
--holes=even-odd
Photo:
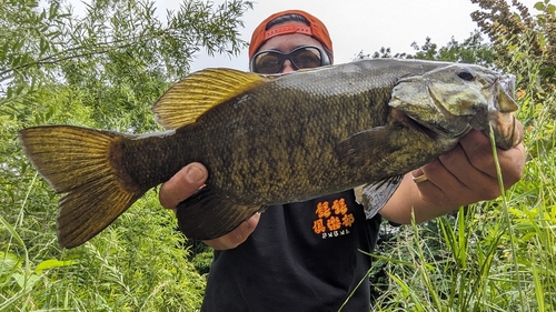
[[[473,128],[488,137],[492,129],[496,144],[510,149],[522,140],[514,93],[514,76],[454,63],[400,79],[389,105],[434,135],[459,138]]]

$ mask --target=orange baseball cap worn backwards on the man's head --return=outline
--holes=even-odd
[[[272,28],[271,30],[267,30],[267,26],[269,22],[274,21],[279,17],[288,14],[298,14],[304,17],[309,22],[309,26],[286,23]],[[251,36],[251,42],[249,44],[249,59],[251,59],[252,56],[255,56],[257,50],[259,50],[260,46],[262,46],[262,43],[265,43],[268,39],[276,36],[288,34],[288,33],[302,33],[310,36],[317,39],[320,43],[322,43],[322,46],[325,46],[325,48],[330,52],[330,54],[332,53],[332,40],[330,40],[330,34],[328,34],[326,26],[319,19],[301,10],[287,10],[271,14],[255,29]]]

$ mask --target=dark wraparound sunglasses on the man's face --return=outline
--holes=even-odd
[[[284,68],[286,60],[291,62],[295,70],[330,64],[328,56],[321,49],[304,46],[287,54],[274,50],[257,52],[251,58],[250,68],[252,72],[257,73],[278,73]]]

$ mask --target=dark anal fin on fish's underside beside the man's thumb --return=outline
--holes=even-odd
[[[178,224],[189,239],[211,240],[231,232],[266,208],[232,203],[205,187],[178,205]]]

